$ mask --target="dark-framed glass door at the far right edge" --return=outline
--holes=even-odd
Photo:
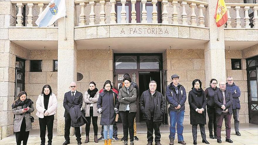
[[[247,59],[249,122],[258,124],[258,56]]]

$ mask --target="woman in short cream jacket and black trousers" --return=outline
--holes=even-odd
[[[52,145],[54,115],[57,111],[57,98],[49,85],[43,86],[36,102],[36,109],[40,126],[41,145],[45,145],[47,128],[48,144]]]

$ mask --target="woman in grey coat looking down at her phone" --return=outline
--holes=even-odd
[[[34,111],[32,100],[27,98],[27,93],[21,91],[18,98],[12,104],[12,111],[15,115],[13,123],[13,132],[15,132],[16,143],[27,144],[30,130],[32,130],[30,113]]]

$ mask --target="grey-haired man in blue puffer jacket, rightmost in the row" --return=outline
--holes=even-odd
[[[235,132],[237,136],[241,136],[239,132],[239,110],[240,110],[240,89],[238,86],[235,85],[233,78],[229,76],[227,78],[228,83],[226,83],[226,90],[230,91],[233,98],[233,118],[234,118],[234,126],[235,126]]]

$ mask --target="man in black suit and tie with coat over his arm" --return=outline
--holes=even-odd
[[[72,106],[74,105],[79,105],[79,107],[82,107],[82,93],[76,91],[76,83],[75,82],[71,82],[70,86],[69,86],[70,90],[69,92],[65,93],[65,97],[64,97],[64,108],[65,108],[65,142],[63,143],[63,145],[67,145],[70,144],[70,128],[71,128],[71,117],[69,115],[69,110]],[[81,133],[80,133],[80,127],[74,127],[75,129],[75,136],[76,136],[76,140],[77,140],[77,144],[82,144],[81,142]]]

